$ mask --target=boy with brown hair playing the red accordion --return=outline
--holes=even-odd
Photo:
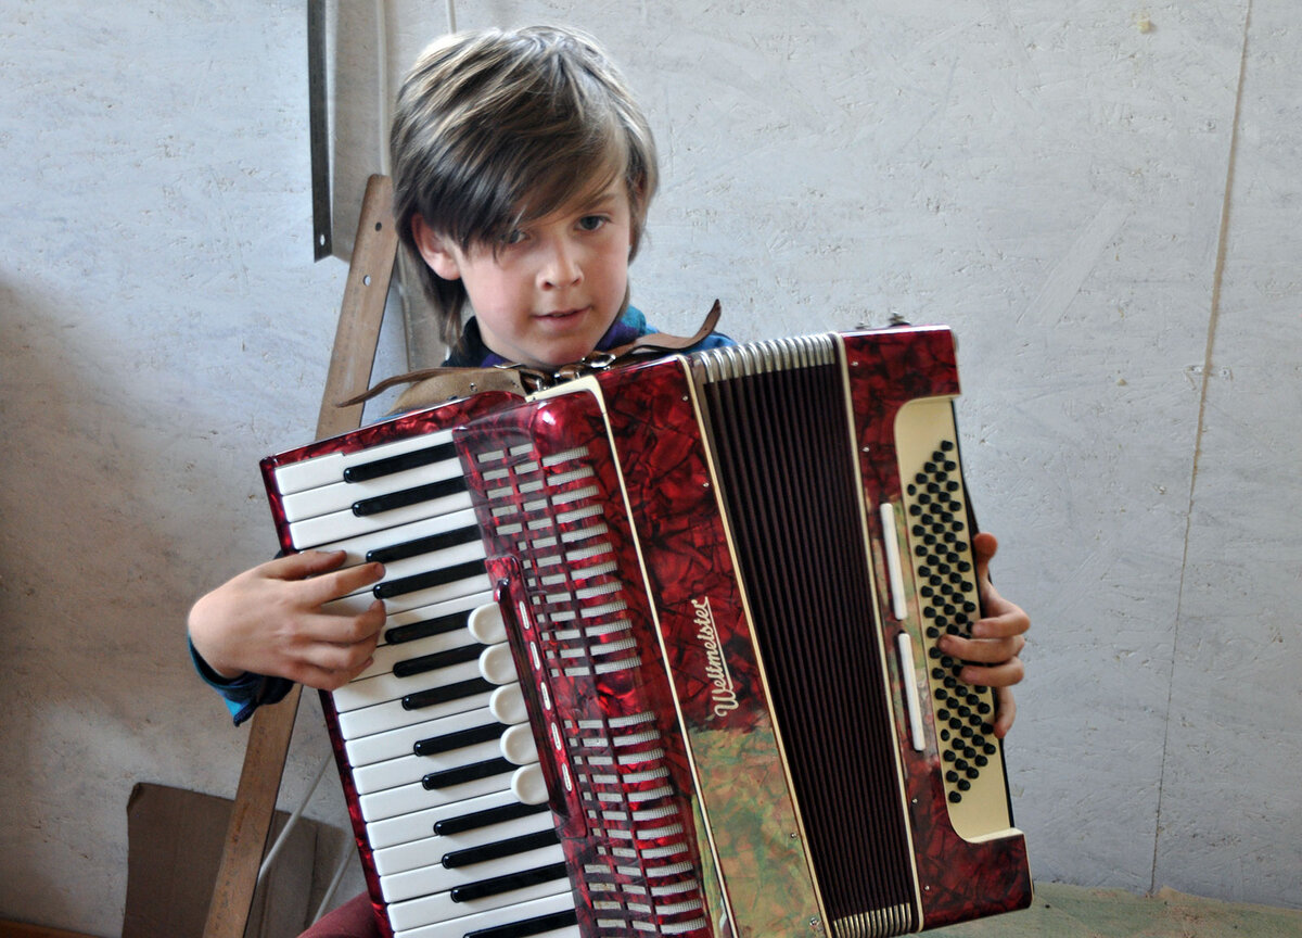
[[[658,182],[655,146],[617,70],[561,29],[447,36],[404,82],[392,133],[395,215],[423,262],[423,288],[456,366],[517,362],[555,370],[651,332],[628,305],[629,261]],[[462,328],[469,305],[474,317]],[[712,335],[695,348],[727,344]],[[1009,687],[1030,620],[990,585],[995,539],[978,535],[987,618],[947,651],[979,664],[965,680],[999,688],[996,733],[1013,722]],[[371,662],[384,606],[331,615],[323,603],[383,576],[337,569],[342,552],[272,560],[190,612],[201,674],[236,722],[290,681],[333,690]],[[376,934],[366,896],[309,935]]]

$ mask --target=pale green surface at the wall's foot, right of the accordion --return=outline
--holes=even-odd
[[[1138,896],[1035,883],[1029,909],[930,931],[945,938],[1302,938],[1302,911],[1224,903],[1161,890]]]

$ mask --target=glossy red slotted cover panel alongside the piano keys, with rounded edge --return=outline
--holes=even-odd
[[[693,784],[600,412],[458,434],[590,938],[719,934]],[[517,417],[527,418],[525,426]]]

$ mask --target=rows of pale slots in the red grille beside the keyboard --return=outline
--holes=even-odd
[[[564,706],[555,724],[586,829],[570,878],[600,938],[704,938],[691,804],[674,778],[665,713],[647,687],[664,680],[644,597],[620,571],[628,525],[603,495],[594,453],[540,456],[530,443],[477,457],[488,534],[516,556],[536,631],[534,680]],[[549,740],[539,740],[546,748]],[[569,787],[570,782],[566,783]]]

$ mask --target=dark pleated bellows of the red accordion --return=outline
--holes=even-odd
[[[822,344],[753,349],[700,356],[697,375],[815,879],[837,938],[913,931],[840,366]]]

